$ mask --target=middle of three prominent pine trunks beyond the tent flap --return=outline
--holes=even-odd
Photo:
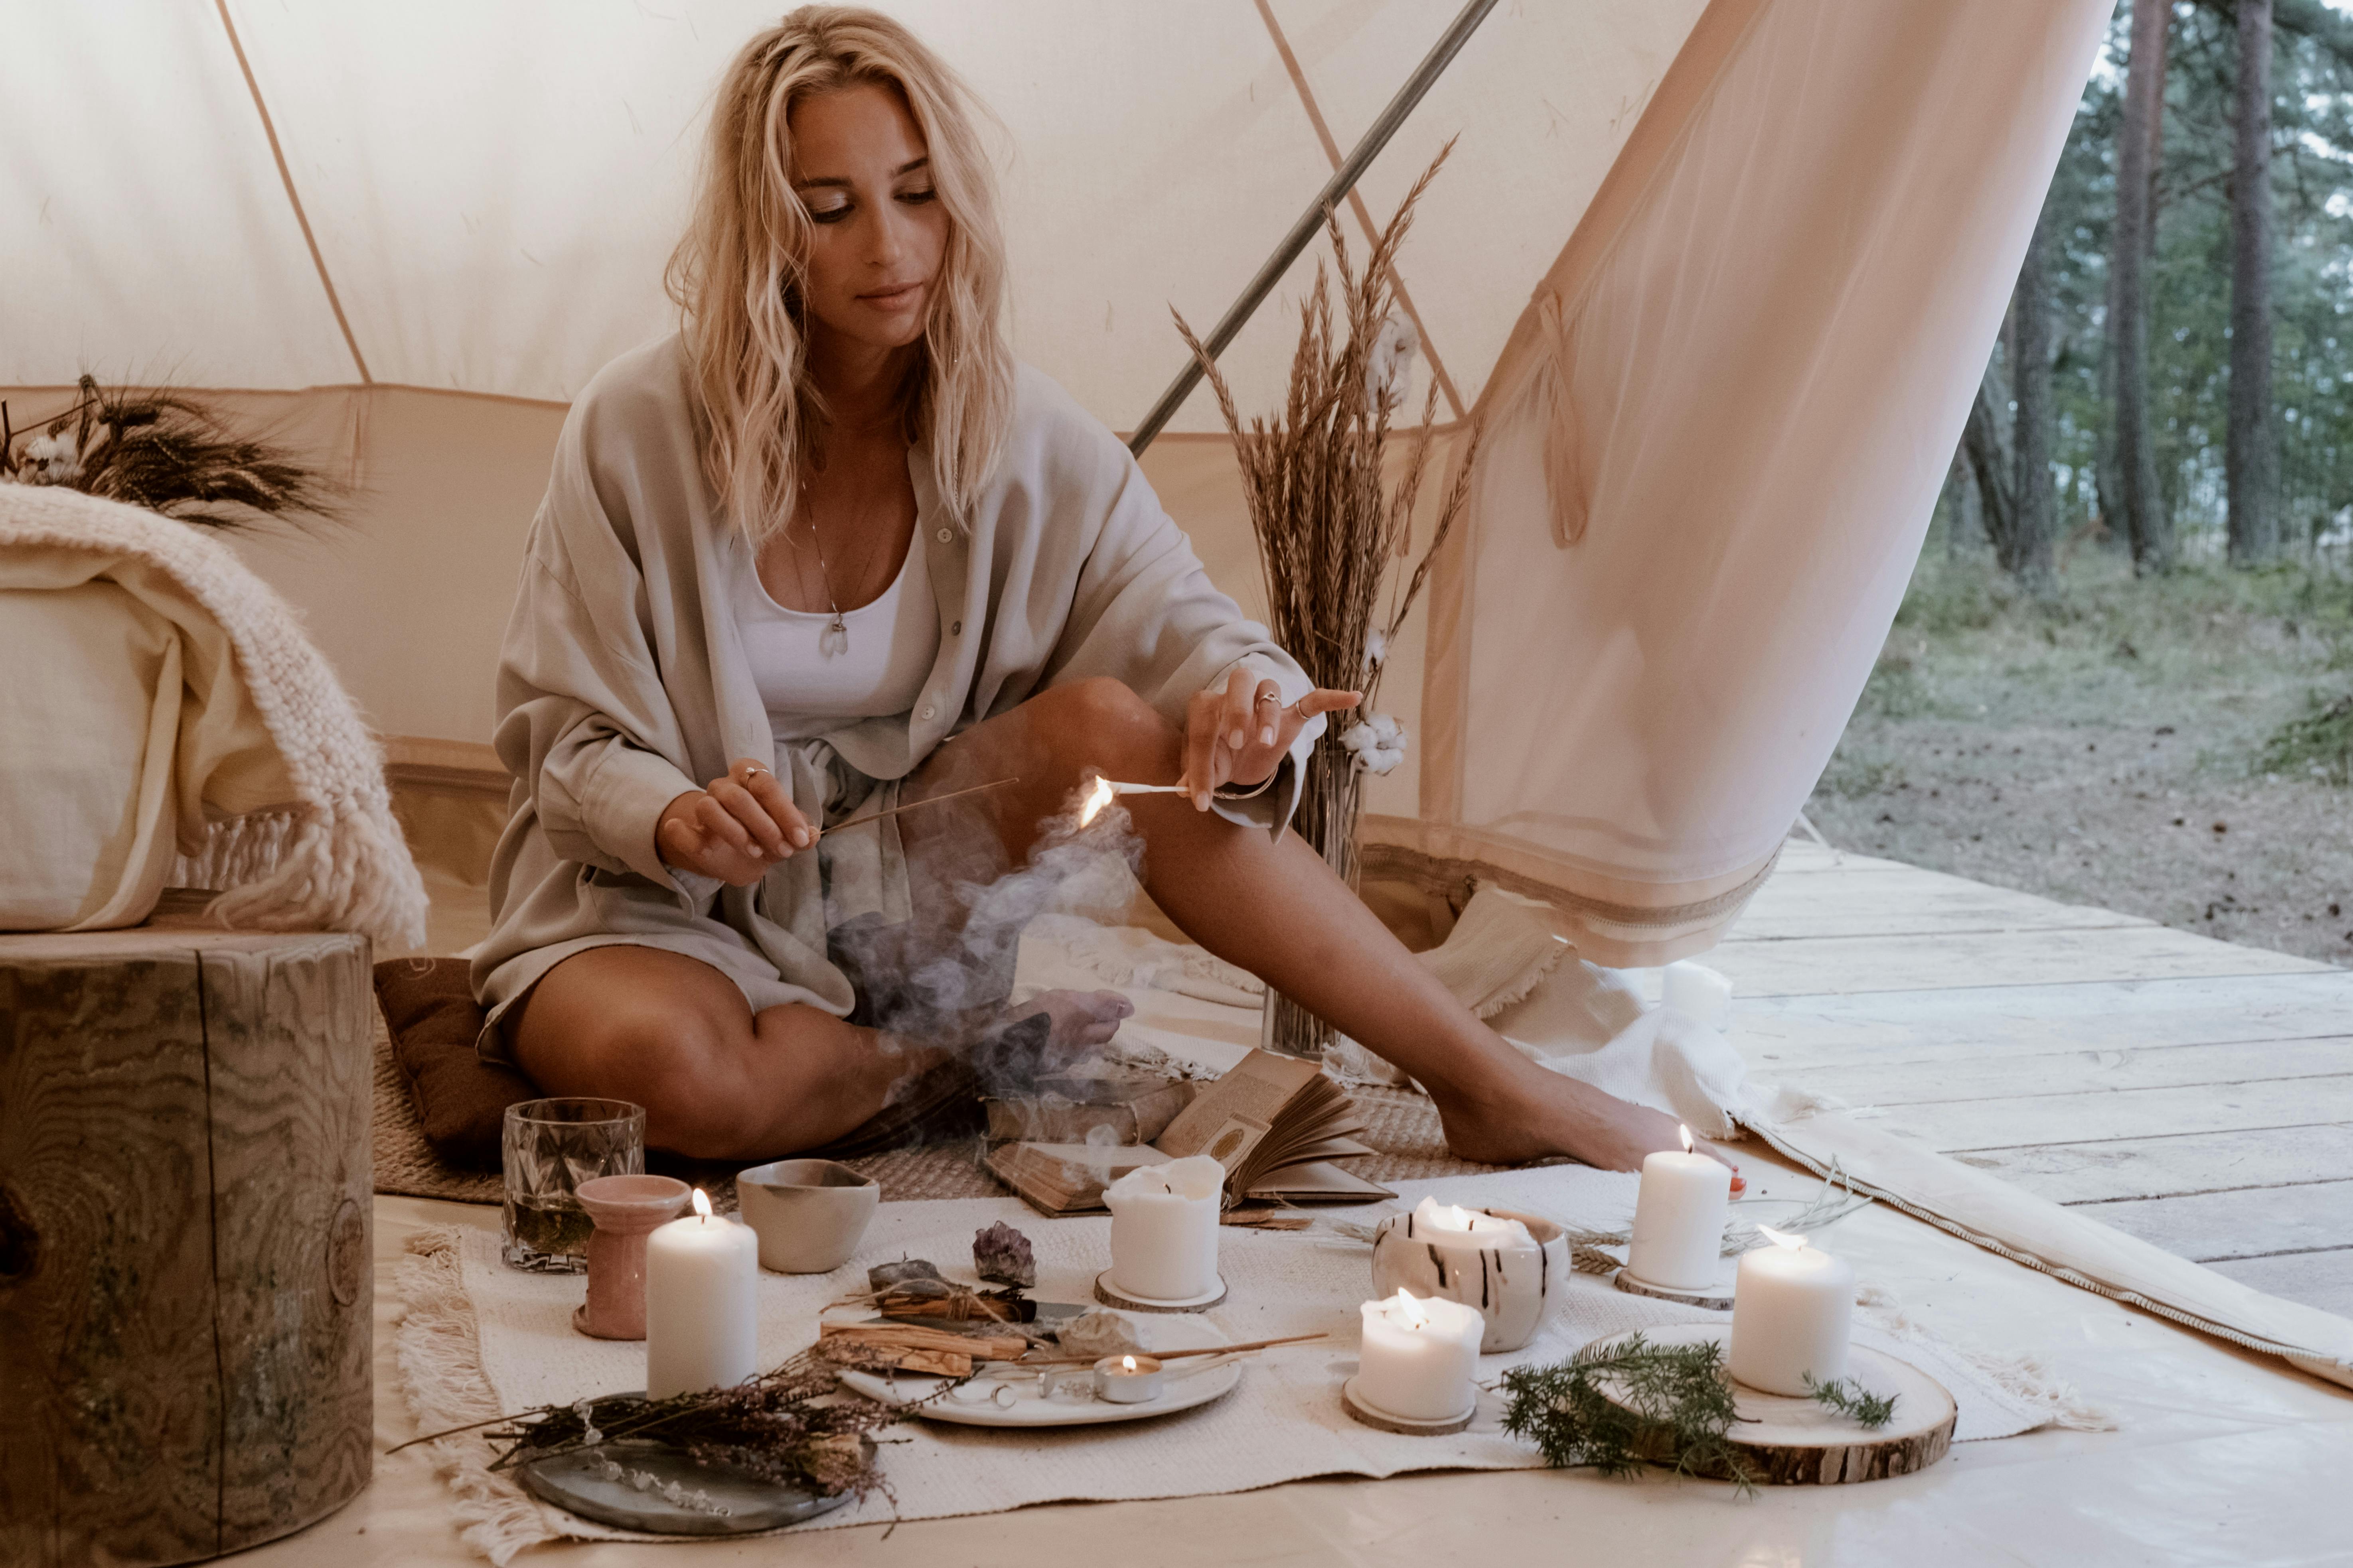
[[[2115,468],[2125,491],[2134,571],[2165,571],[2174,557],[2148,409],[2148,252],[2155,233],[2155,153],[2165,129],[2169,16],[2172,7],[2162,0],[2134,0],[2125,118],[2115,132],[2115,230],[2108,261],[2115,275],[2115,310],[2108,336],[2115,346]]]

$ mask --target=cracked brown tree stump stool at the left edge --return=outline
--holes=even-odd
[[[0,1563],[221,1556],[374,1462],[367,938],[191,905],[0,936]]]

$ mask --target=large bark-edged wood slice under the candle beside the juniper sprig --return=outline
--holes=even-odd
[[[1645,1328],[1652,1345],[1697,1345],[1729,1338],[1729,1324],[1678,1324]],[[1739,1401],[1739,1425],[1732,1427],[1732,1450],[1758,1486],[1838,1486],[1880,1481],[1927,1469],[1953,1446],[1953,1396],[1941,1382],[1911,1361],[1897,1361],[1864,1345],[1847,1349],[1847,1380],[1871,1394],[1894,1394],[1897,1413],[1871,1429],[1852,1415],[1791,1394],[1765,1394],[1744,1382],[1732,1392]],[[1607,1382],[1602,1396],[1609,1399]],[[1661,1458],[1666,1448],[1661,1446]],[[1713,1474],[1725,1479],[1722,1469]]]

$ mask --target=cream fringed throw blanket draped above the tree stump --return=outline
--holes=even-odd
[[[226,926],[421,943],[384,755],[294,611],[205,531],[0,484],[0,929]]]

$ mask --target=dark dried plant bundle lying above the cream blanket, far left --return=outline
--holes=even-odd
[[[106,390],[92,376],[80,393],[28,430],[9,428],[0,409],[0,482],[64,484],[219,529],[341,508],[341,487],[294,451],[238,435],[191,397]]]

